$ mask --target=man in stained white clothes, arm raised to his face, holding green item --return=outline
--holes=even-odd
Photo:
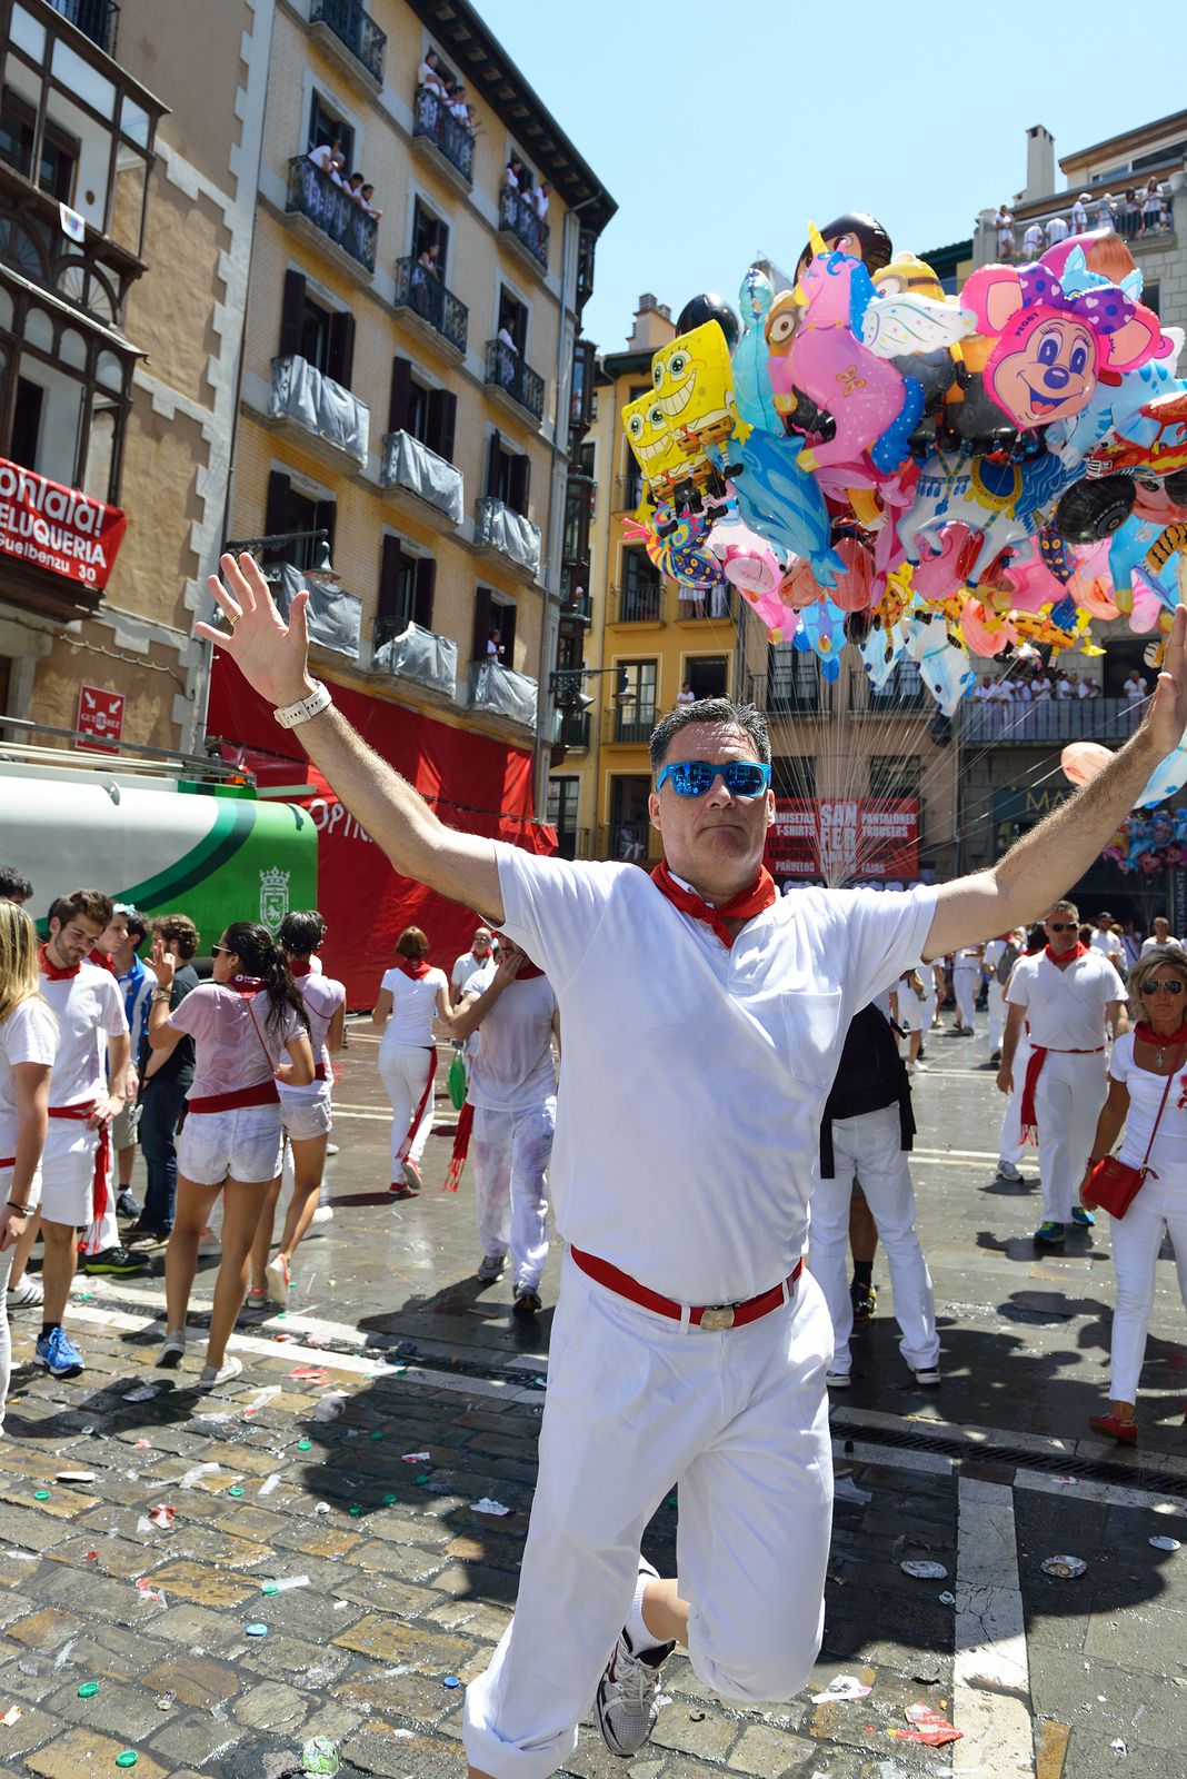
[[[556,1130],[560,1012],[547,977],[522,946],[499,934],[494,975],[457,1009],[453,1030],[476,1039],[467,1105],[473,1107],[478,1277],[494,1284],[510,1249],[515,1315],[540,1309],[547,1260],[547,1187]]]

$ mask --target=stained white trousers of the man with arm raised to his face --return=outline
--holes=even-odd
[[[474,1163],[478,1245],[483,1254],[512,1254],[515,1288],[540,1284],[547,1260],[547,1185],[556,1098],[519,1112],[474,1107],[469,1153]]]

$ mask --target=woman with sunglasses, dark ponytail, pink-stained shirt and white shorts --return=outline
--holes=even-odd
[[[169,1012],[178,961],[155,939],[156,989],[149,1009],[151,1050],[169,1053],[181,1037],[194,1039],[194,1083],[178,1137],[178,1208],[165,1254],[167,1334],[158,1364],[178,1366],[185,1357],[197,1244],[215,1199],[227,1188],[203,1389],[243,1370],[238,1359],[226,1357],[226,1347],[243,1306],[259,1210],[281,1171],[277,1076],[297,1087],[313,1080],[306,1007],[268,929],[236,920],[211,950],[211,980],[199,982]],[[281,1062],[284,1051],[288,1062]]]

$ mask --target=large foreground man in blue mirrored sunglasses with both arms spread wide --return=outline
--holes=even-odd
[[[791,1697],[819,1649],[832,1514],[832,1327],[801,1254],[848,1023],[919,957],[1032,920],[1087,870],[1187,729],[1187,610],[1135,735],[992,870],[778,897],[752,706],[702,699],[657,724],[652,877],[535,857],[446,827],[334,710],[307,671],[307,594],[286,621],[251,557],[222,573],[229,630],[199,633],[394,870],[508,932],[562,1012],[551,1190],[569,1254],[519,1603],[466,1695],[471,1779],[547,1779],[592,1695],[606,1743],[633,1754],[675,1642],[729,1697]],[[679,1580],[640,1557],[673,1480]]]

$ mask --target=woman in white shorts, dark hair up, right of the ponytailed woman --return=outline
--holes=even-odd
[[[347,989],[334,977],[313,970],[313,959],[325,938],[325,922],[316,909],[286,914],[277,932],[297,991],[309,1016],[309,1041],[316,1059],[309,1087],[290,1087],[279,1082],[281,1123],[293,1151],[293,1195],[284,1217],[284,1231],[275,1260],[268,1261],[272,1226],[281,1197],[277,1174],[268,1187],[259,1213],[259,1228],[251,1254],[252,1286],[247,1293],[249,1309],[263,1309],[268,1299],[288,1304],[290,1267],[297,1245],[313,1222],[325,1172],[325,1144],[331,1133],[331,1087],[334,1082],[332,1057],[341,1050],[347,1023]]]

